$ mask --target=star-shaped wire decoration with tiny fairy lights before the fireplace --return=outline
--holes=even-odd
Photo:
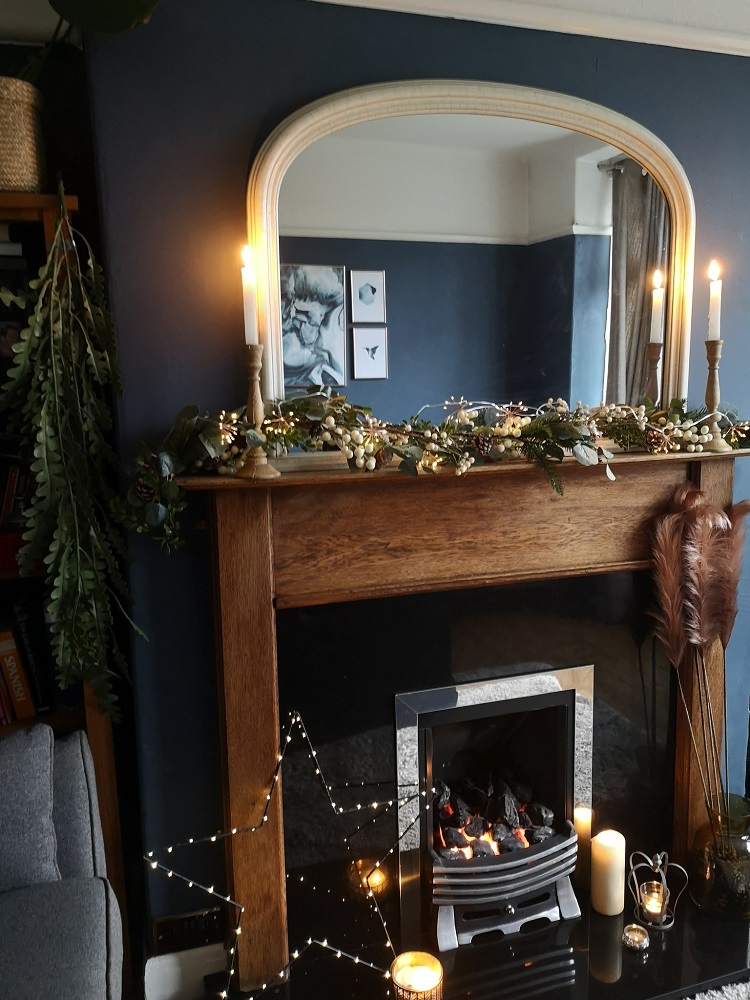
[[[236,938],[242,933],[242,919],[245,913],[245,907],[242,905],[242,903],[240,903],[236,899],[233,899],[231,897],[231,894],[222,893],[218,891],[215,886],[204,885],[202,882],[190,878],[188,875],[184,874],[184,872],[178,871],[174,866],[167,863],[167,861],[169,860],[168,856],[172,855],[174,851],[179,850],[181,848],[193,847],[197,844],[220,843],[222,841],[229,839],[230,837],[236,837],[241,834],[256,833],[258,830],[262,829],[263,826],[268,822],[269,810],[271,808],[271,803],[273,802],[273,798],[276,793],[276,789],[278,787],[279,776],[281,774],[281,766],[283,764],[284,757],[286,756],[286,752],[289,749],[290,744],[292,743],[292,737],[295,729],[299,730],[305,743],[307,744],[307,747],[309,749],[308,756],[313,763],[315,776],[318,778],[323,788],[328,805],[334,816],[336,816],[337,818],[341,818],[342,816],[352,815],[357,812],[361,812],[363,810],[371,810],[375,813],[375,815],[369,817],[364,823],[359,824],[357,827],[355,827],[355,829],[351,833],[349,833],[346,837],[344,837],[344,845],[346,846],[346,849],[351,857],[351,864],[353,870],[357,874],[357,885],[364,893],[366,899],[368,900],[372,908],[372,911],[377,915],[380,921],[380,924],[383,929],[383,934],[385,937],[385,942],[384,942],[385,947],[388,948],[388,950],[395,956],[396,949],[394,947],[393,941],[390,936],[390,932],[388,930],[388,924],[385,919],[385,916],[383,915],[381,906],[378,902],[377,893],[370,886],[370,879],[373,877],[373,874],[375,872],[381,869],[381,867],[388,860],[388,858],[395,853],[398,845],[401,843],[401,841],[407,835],[407,833],[418,822],[421,821],[422,817],[426,815],[427,812],[429,812],[432,802],[434,801],[435,790],[431,789],[430,792],[428,793],[426,789],[423,789],[420,792],[415,792],[403,797],[398,797],[398,796],[395,798],[391,797],[384,799],[382,802],[381,801],[366,802],[366,803],[360,802],[360,803],[355,803],[351,807],[345,807],[341,805],[341,803],[336,802],[334,800],[332,794],[333,792],[338,793],[340,791],[343,791],[344,789],[353,789],[353,788],[368,788],[368,787],[380,788],[381,786],[390,783],[383,781],[372,781],[372,782],[363,781],[358,784],[346,782],[343,788],[342,786],[329,785],[325,779],[323,770],[320,766],[317,750],[313,746],[312,740],[310,739],[310,736],[307,732],[307,728],[305,727],[305,724],[302,721],[302,716],[297,711],[292,711],[289,713],[289,723],[286,727],[285,732],[282,734],[281,747],[277,756],[276,764],[274,766],[270,785],[266,793],[266,800],[263,807],[263,812],[260,816],[260,819],[257,822],[242,827],[232,827],[232,829],[230,830],[223,830],[223,831],[219,830],[216,833],[207,834],[206,836],[202,837],[189,837],[187,840],[178,841],[175,842],[174,844],[170,844],[169,846],[163,847],[159,849],[159,851],[155,850],[148,851],[143,856],[144,861],[146,862],[149,871],[161,872],[167,878],[177,879],[178,881],[186,885],[188,888],[198,889],[200,892],[203,892],[206,895],[211,896],[217,900],[220,900],[222,903],[232,907],[236,916],[236,923],[234,926],[234,937],[236,941]],[[355,852],[352,845],[352,839],[357,837],[358,834],[360,834],[364,829],[369,827],[372,823],[377,822],[377,820],[380,819],[382,816],[390,813],[394,805],[402,807],[404,805],[413,802],[415,799],[420,799],[420,798],[425,800],[424,806],[422,806],[418,810],[417,815],[414,817],[414,819],[405,827],[404,830],[400,832],[395,843],[385,852],[385,854],[381,858],[375,861],[375,863],[372,865],[369,871],[367,871],[366,874],[363,874],[362,862],[359,861],[355,856]],[[287,878],[289,878],[288,875]],[[305,881],[304,876],[300,876],[300,881],[301,882]],[[312,885],[312,889],[313,891],[315,891],[316,886]],[[330,889],[328,890],[328,893],[330,894]],[[342,902],[345,901],[346,901],[345,899],[342,899]],[[294,965],[294,963],[297,962],[302,957],[302,955],[312,946],[319,947],[325,951],[330,951],[333,954],[335,954],[336,958],[345,958],[353,962],[355,965],[362,965],[366,968],[374,970],[375,972],[382,973],[386,979],[390,977],[388,969],[381,968],[379,965],[376,965],[373,962],[368,961],[367,959],[363,958],[360,955],[351,954],[350,952],[346,951],[343,948],[338,948],[332,944],[329,944],[327,938],[321,940],[319,938],[309,937],[307,939],[306,944],[303,947],[292,951],[288,965],[286,965],[283,969],[280,969],[275,974],[275,976],[271,977],[269,982],[263,983],[260,989],[255,992],[263,993],[267,989],[270,989],[271,987],[277,985],[279,982],[285,981],[288,978],[292,965]],[[232,944],[227,949],[227,953],[228,953],[228,964],[227,964],[226,987],[223,990],[217,992],[217,996],[220,998],[220,1000],[223,1000],[223,998],[229,996],[231,991],[232,979],[236,974],[236,961],[237,961],[236,945]]]

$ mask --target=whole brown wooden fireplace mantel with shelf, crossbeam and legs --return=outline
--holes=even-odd
[[[257,822],[278,757],[277,608],[645,569],[650,519],[674,488],[688,480],[727,505],[739,454],[617,456],[615,482],[566,461],[563,497],[521,462],[460,479],[344,469],[180,480],[211,491],[227,826]],[[709,660],[718,684],[720,659]],[[686,697],[693,704],[689,688]],[[675,857],[702,821],[684,713],[677,719]],[[288,960],[282,822],[277,794],[262,830],[230,840],[231,892],[245,907],[243,990]]]

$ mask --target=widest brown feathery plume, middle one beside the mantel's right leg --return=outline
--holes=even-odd
[[[685,514],[682,540],[685,633],[690,645],[704,653],[719,636],[726,604],[721,564],[730,528],[731,522],[724,511],[709,504],[698,504]]]

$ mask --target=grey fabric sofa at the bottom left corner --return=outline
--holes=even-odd
[[[121,977],[85,734],[0,739],[0,1000],[119,1000]]]

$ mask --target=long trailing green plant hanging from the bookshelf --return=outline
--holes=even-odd
[[[35,481],[19,564],[23,575],[43,567],[60,684],[85,681],[100,709],[116,716],[112,680],[127,672],[117,632],[123,619],[136,628],[121,571],[124,545],[108,506],[116,468],[111,400],[120,374],[102,269],[71,228],[62,186],[47,260],[29,286],[25,294],[0,289],[28,323],[0,388],[0,409]]]

